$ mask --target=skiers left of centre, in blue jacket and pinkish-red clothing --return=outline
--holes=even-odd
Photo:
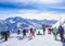
[[[36,32],[36,28],[32,28],[32,27],[29,28],[29,30],[24,28],[24,30],[22,31],[22,33],[23,33],[23,38],[27,36],[27,33],[29,34],[28,37],[30,37],[30,38],[35,37],[35,32]],[[21,33],[21,32],[17,31],[17,34],[20,34],[20,33]]]

